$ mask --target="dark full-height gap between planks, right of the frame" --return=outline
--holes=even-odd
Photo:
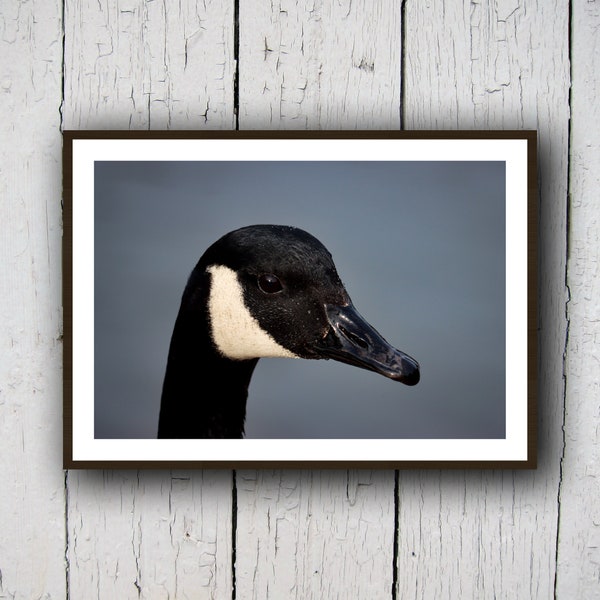
[[[557,489],[557,515],[556,515],[556,536],[555,536],[555,548],[554,548],[554,598],[557,598],[558,593],[558,560],[559,560],[559,540],[560,540],[560,528],[561,528],[561,496],[563,491],[563,469],[566,451],[566,417],[567,417],[567,378],[568,378],[568,349],[569,349],[569,333],[571,328],[571,317],[569,304],[571,302],[571,290],[569,288],[569,253],[571,248],[571,235],[570,235],[570,221],[571,221],[571,107],[573,105],[573,2],[569,0],[569,22],[567,24],[567,47],[568,47],[568,58],[569,58],[569,95],[568,95],[568,109],[569,119],[567,122],[567,206],[565,215],[565,289],[566,289],[566,300],[565,300],[565,337],[564,337],[564,349],[563,349],[563,360],[562,360],[562,379],[563,379],[563,397],[562,397],[562,415],[561,415],[561,453],[558,470],[558,489]]]

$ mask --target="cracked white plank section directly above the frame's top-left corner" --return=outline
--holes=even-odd
[[[231,129],[233,16],[233,0],[68,0],[63,128]]]

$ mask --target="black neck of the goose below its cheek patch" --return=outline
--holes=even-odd
[[[159,438],[241,438],[258,359],[234,361],[212,344],[206,313],[182,303],[169,349]]]

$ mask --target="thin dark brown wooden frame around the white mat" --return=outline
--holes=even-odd
[[[77,139],[410,139],[410,140],[503,140],[527,141],[527,459],[523,461],[111,461],[73,458],[73,141]],[[537,372],[538,372],[538,191],[537,133],[535,131],[65,131],[63,133],[63,319],[64,319],[64,430],[65,469],[91,468],[503,468],[532,469],[537,466]]]

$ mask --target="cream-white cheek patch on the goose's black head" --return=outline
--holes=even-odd
[[[244,304],[242,287],[235,271],[222,265],[211,265],[208,315],[215,346],[234,360],[261,357],[299,358],[280,346],[250,314]]]

